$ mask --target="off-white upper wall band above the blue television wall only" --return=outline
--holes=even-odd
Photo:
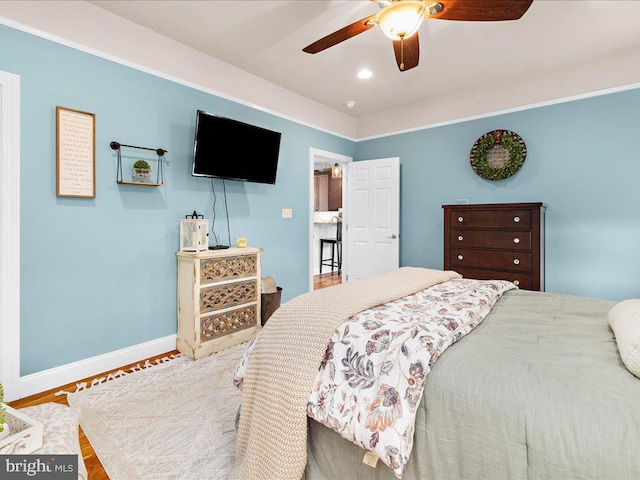
[[[354,118],[82,1],[2,1],[0,23],[341,137]]]

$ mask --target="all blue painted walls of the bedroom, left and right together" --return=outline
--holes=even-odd
[[[442,268],[442,204],[542,201],[547,291],[640,295],[639,90],[356,144],[7,27],[0,45],[0,70],[21,77],[22,375],[176,332],[178,220],[212,216],[208,180],[190,175],[197,109],[282,132],[277,185],[227,182],[227,194],[231,238],[265,249],[285,300],[308,287],[309,147],[400,157],[403,265]],[[96,114],[95,199],[55,195],[56,105]],[[528,157],[490,182],[468,156],[497,128]],[[167,149],[165,186],[116,184],[112,140]]]

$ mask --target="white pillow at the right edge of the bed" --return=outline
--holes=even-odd
[[[615,304],[609,310],[609,325],[627,370],[640,378],[640,299]]]

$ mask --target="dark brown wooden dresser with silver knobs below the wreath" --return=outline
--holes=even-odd
[[[443,205],[444,269],[544,291],[543,203]]]

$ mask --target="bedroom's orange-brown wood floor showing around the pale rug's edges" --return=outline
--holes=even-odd
[[[151,358],[149,358],[149,360],[151,362],[153,362],[156,359],[159,359],[159,358],[162,358],[162,357],[166,357],[166,356],[174,354],[174,353],[178,353],[178,351],[174,350],[172,352],[163,353],[162,355],[157,355],[155,357],[151,357]],[[73,392],[76,389],[76,383],[87,382],[88,384],[90,384],[91,381],[94,378],[104,377],[105,375],[108,375],[109,373],[117,372],[118,370],[127,371],[128,369],[130,369],[131,367],[134,367],[135,365],[137,365],[139,363],[140,364],[144,364],[146,362],[146,360],[147,359],[141,360],[139,362],[132,363],[130,365],[125,365],[124,367],[115,368],[115,369],[110,370],[108,372],[101,373],[100,375],[94,375],[93,377],[89,377],[89,378],[85,378],[85,379],[82,379],[82,380],[78,380],[78,382],[73,382],[73,383],[69,383],[67,385],[62,385],[60,387],[53,388],[51,390],[47,390],[46,392],[41,392],[41,393],[37,393],[35,395],[31,395],[30,397],[21,398],[20,400],[15,400],[13,402],[9,402],[9,405],[12,406],[13,408],[32,407],[34,405],[40,405],[40,404],[43,404],[43,403],[50,403],[50,402],[62,403],[63,405],[69,405],[67,403],[67,397],[65,395],[56,396],[55,395],[56,392],[59,392],[60,390],[66,390],[68,392]],[[84,432],[82,431],[82,428],[80,428],[80,450],[82,451],[82,458],[84,459],[84,464],[87,467],[87,473],[89,475],[89,480],[109,480],[109,476],[104,471],[104,468],[102,467],[102,464],[100,463],[100,460],[98,460],[98,457],[96,456],[96,453],[93,451],[93,447],[91,446],[91,443],[89,443],[89,440],[87,439],[87,437],[85,436]]]

